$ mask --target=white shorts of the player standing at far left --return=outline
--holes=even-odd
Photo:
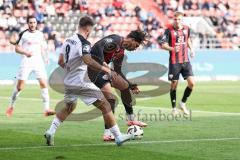
[[[37,79],[47,80],[47,72],[44,67],[20,67],[16,78],[27,80],[31,73],[34,73]]]

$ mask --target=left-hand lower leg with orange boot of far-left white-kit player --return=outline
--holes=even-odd
[[[7,111],[6,111],[7,117],[12,116],[16,100],[17,100],[19,94],[21,93],[21,91],[23,90],[24,86],[25,86],[25,81],[24,80],[18,80],[17,81],[17,84],[14,87],[14,90],[13,90],[13,93],[12,93],[12,96],[11,96],[10,104],[9,104],[9,106],[7,108]]]

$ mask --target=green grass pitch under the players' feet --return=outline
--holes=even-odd
[[[185,83],[179,85],[178,101]],[[141,88],[147,90],[152,86]],[[101,140],[101,117],[66,121],[58,129],[55,146],[47,147],[43,134],[53,117],[44,117],[38,86],[27,85],[21,93],[13,117],[5,110],[13,86],[0,85],[0,160],[239,160],[240,82],[197,82],[188,106],[191,116],[172,119],[169,94],[137,99],[134,108],[140,120],[147,120],[141,140],[117,147]],[[63,95],[50,91],[51,106]],[[82,103],[75,113],[92,109]],[[160,114],[168,116],[168,119]],[[117,107],[116,118],[123,132],[127,126],[124,110]]]

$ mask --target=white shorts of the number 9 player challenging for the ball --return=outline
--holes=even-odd
[[[93,83],[86,83],[84,86],[66,86],[65,85],[65,103],[77,103],[78,97],[86,104],[91,105],[97,100],[103,99],[101,90]]]

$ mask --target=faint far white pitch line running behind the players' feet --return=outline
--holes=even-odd
[[[9,99],[9,97],[1,97],[0,99]],[[24,98],[24,97],[19,97],[19,100],[24,100],[24,101],[42,101],[41,98]],[[51,102],[60,102],[63,99],[50,99]],[[80,101],[80,104],[83,104]],[[119,104],[119,106],[123,106],[122,104]],[[146,107],[146,106],[141,106],[141,105],[136,105],[135,109],[137,108],[142,108],[142,109],[152,109],[152,110],[166,110],[171,112],[170,108],[163,108],[163,107],[159,107],[159,106],[155,106],[155,107]],[[240,113],[232,113],[232,112],[212,112],[212,111],[199,111],[199,110],[192,110],[193,113],[208,113],[208,114],[217,114],[217,115],[240,115]]]

